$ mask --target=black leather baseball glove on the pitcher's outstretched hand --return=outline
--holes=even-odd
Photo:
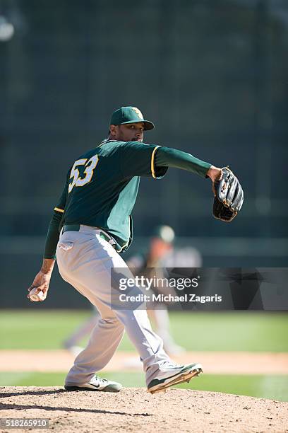
[[[234,173],[224,167],[222,178],[214,183],[215,199],[213,203],[213,216],[222,221],[232,221],[240,211],[244,192]]]

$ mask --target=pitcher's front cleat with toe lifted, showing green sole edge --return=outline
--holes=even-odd
[[[157,374],[157,379],[152,379],[148,384],[148,393],[155,394],[166,391],[167,388],[178,383],[189,382],[193,377],[202,373],[201,364],[169,364],[162,366]]]

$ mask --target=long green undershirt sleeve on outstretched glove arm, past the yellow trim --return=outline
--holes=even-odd
[[[203,178],[207,177],[207,172],[212,164],[201,161],[191,154],[177,149],[161,146],[155,155],[156,168],[174,167],[182,170],[191,171]]]

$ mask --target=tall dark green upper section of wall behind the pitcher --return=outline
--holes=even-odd
[[[120,105],[155,122],[146,142],[229,164],[246,197],[221,224],[209,180],[170,170],[142,181],[136,235],[167,223],[179,236],[287,237],[287,1],[1,0],[0,13],[15,27],[0,42],[0,255],[10,236],[44,236],[68,167]],[[35,250],[21,248],[32,272]]]

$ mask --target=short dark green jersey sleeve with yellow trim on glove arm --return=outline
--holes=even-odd
[[[161,146],[140,142],[126,142],[121,147],[120,164],[124,178],[133,176],[152,176],[161,179],[167,172],[167,166],[155,166],[155,156]]]

